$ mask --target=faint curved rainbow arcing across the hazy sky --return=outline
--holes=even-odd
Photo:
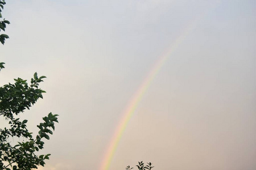
[[[218,1],[220,2],[220,1]],[[216,3],[217,5],[217,3]],[[215,5],[215,7],[216,7]],[[177,47],[183,42],[185,37],[189,35],[189,33],[192,32],[192,30],[196,27],[196,23],[199,22],[203,16],[205,16],[207,11],[204,12],[203,15],[200,15],[199,18],[196,18],[192,20],[191,23],[185,27],[183,31],[181,31],[180,36],[178,36],[175,41],[167,48],[166,52],[162,54],[162,56],[159,57],[158,61],[155,63],[155,65],[152,67],[150,72],[147,74],[146,78],[143,80],[141,86],[138,88],[137,92],[135,92],[134,96],[131,98],[129,104],[127,105],[122,119],[119,122],[114,135],[112,137],[112,140],[109,144],[108,150],[106,150],[106,154],[104,156],[104,159],[100,165],[100,170],[108,170],[110,167],[110,163],[112,162],[113,156],[115,151],[117,150],[118,143],[120,142],[122,138],[123,131],[125,131],[126,126],[128,122],[130,121],[130,118],[133,116],[135,110],[137,109],[140,101],[142,100],[143,95],[147,91],[148,87],[150,87],[150,84],[152,83],[152,80],[154,80],[155,76],[159,73],[159,70],[164,65],[164,63],[167,61],[168,57],[171,56],[171,54],[177,49]],[[209,12],[209,10],[208,10]]]

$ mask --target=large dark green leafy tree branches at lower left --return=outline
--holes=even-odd
[[[4,68],[3,64],[0,63],[0,70]],[[14,84],[0,87],[0,116],[9,122],[9,128],[0,129],[0,169],[37,169],[38,165],[44,166],[44,161],[51,155],[36,155],[36,152],[42,150],[43,138],[49,139],[49,134],[52,134],[50,128],[55,129],[54,122],[58,122],[58,115],[49,113],[43,117],[44,122],[37,126],[39,133],[35,138],[27,129],[27,120],[22,121],[18,117],[19,113],[30,109],[39,98],[43,99],[42,94],[45,91],[39,88],[39,83],[43,82],[44,78],[46,76],[38,78],[35,73],[30,84],[27,80],[17,78],[14,79]],[[9,142],[14,141],[9,140],[14,137],[23,138],[23,142]]]

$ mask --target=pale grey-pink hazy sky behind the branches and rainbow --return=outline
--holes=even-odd
[[[47,76],[44,99],[20,114],[34,135],[59,114],[39,169],[255,169],[255,11],[253,0],[7,1],[0,86]]]

